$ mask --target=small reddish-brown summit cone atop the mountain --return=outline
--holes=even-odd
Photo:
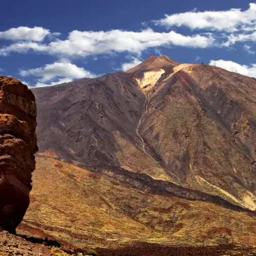
[[[154,70],[154,69],[161,69],[164,66],[177,66],[180,63],[176,62],[175,60],[170,59],[166,55],[161,56],[150,56],[145,61],[141,62],[136,67],[127,70],[127,73],[134,73],[137,71],[146,71],[146,70]]]

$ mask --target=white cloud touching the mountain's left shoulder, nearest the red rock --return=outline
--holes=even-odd
[[[47,64],[44,67],[29,69],[29,70],[20,70],[19,74],[21,76],[37,76],[40,77],[37,81],[36,86],[49,86],[51,84],[56,84],[56,79],[58,83],[70,82],[74,79],[79,78],[93,78],[96,77],[95,74],[90,71],[84,70],[83,68],[77,67],[75,64],[70,62],[54,62],[52,64]],[[48,84],[46,83],[48,82]],[[50,82],[50,83],[49,83]]]

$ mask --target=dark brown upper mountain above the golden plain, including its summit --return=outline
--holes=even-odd
[[[33,92],[41,154],[155,194],[256,209],[254,78],[160,56]]]

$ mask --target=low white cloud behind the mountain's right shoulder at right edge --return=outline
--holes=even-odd
[[[255,77],[256,78],[256,64],[240,65],[239,63],[233,62],[231,60],[210,60],[209,65],[217,66],[222,69],[226,69],[231,72],[236,72],[245,76]]]

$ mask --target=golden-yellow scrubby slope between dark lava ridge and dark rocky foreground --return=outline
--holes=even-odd
[[[147,195],[68,163],[37,158],[24,223],[76,246],[255,244],[256,220],[216,204]],[[47,174],[47,175],[46,175]]]

